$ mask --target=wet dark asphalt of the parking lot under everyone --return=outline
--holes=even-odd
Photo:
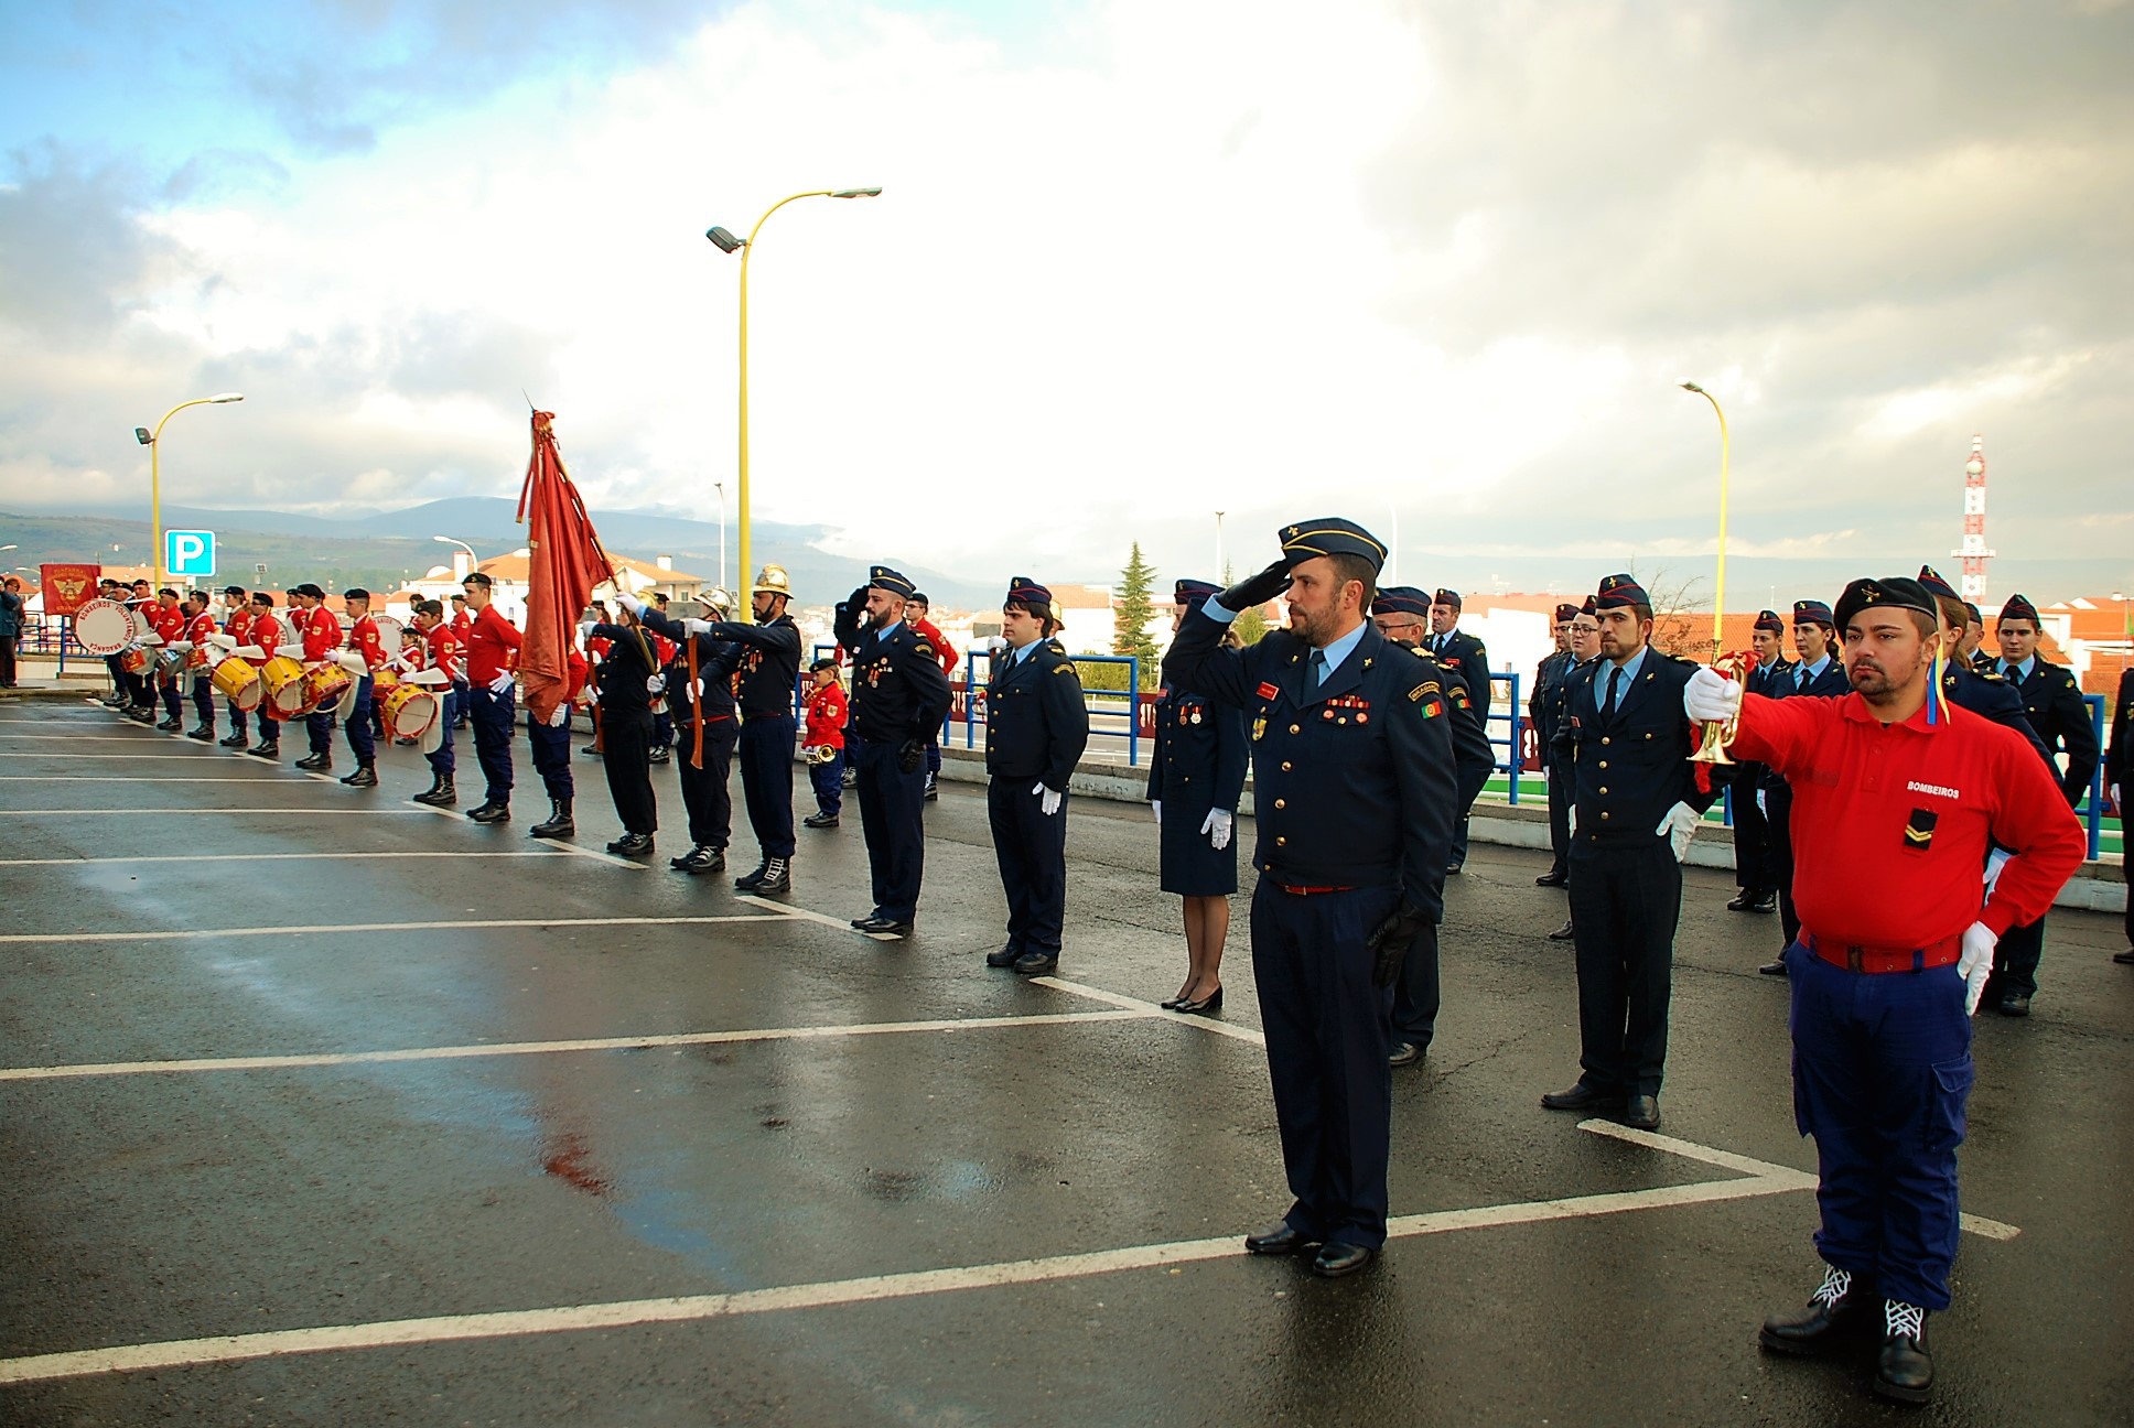
[[[619,828],[600,764],[574,764],[574,845],[598,852]],[[1137,1014],[1184,969],[1142,807],[1071,805],[1058,978],[1129,999],[1099,1016],[1120,1007],[984,967],[1003,901],[975,788],[928,809],[918,937],[881,943],[841,926],[869,911],[849,800],[841,830],[802,830],[777,899],[813,920],[666,871],[670,768],[647,869],[527,837],[546,805],[523,743],[497,828],[405,803],[414,749],[380,775],[352,792],[85,704],[0,707],[0,856],[64,860],[0,867],[23,937],[0,941],[0,1067],[798,1035],[0,1080],[0,1360],[847,1285],[1227,1238],[1287,1206],[1261,1050]],[[736,822],[730,873],[753,864]],[[1739,1176],[1536,1106],[1577,1074],[1543,867],[1477,845],[1449,882],[1438,1040],[1396,1074],[1396,1217]],[[1786,988],[1754,971],[1775,920],[1731,892],[1688,873],[1662,1133],[1812,1170]],[[1244,914],[1223,1020],[1251,1029]],[[408,926],[501,920],[553,922]],[[2055,914],[2036,1014],[1978,1022],[1963,1204],[2019,1234],[1965,1236],[1923,1411],[1867,1396],[1869,1345],[1758,1353],[1763,1315],[1818,1279],[1812,1195],[1784,1191],[1396,1238],[1340,1283],[1216,1253],[627,1328],[17,1383],[0,1364],[0,1424],[2125,1424],[2119,946],[2117,918]]]

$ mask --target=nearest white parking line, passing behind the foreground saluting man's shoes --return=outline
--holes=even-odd
[[[1669,1185],[1650,1191],[1615,1191],[1607,1195],[1573,1195],[1564,1200],[1528,1200],[1517,1204],[1479,1206],[1470,1210],[1438,1210],[1404,1215],[1387,1223],[1389,1238],[1447,1234],[1455,1229],[1490,1229],[1539,1221],[1622,1215],[1628,1210],[1671,1208],[1775,1195],[1799,1189],[1790,1180],[1748,1178]],[[636,1323],[689,1323],[736,1315],[824,1308],[832,1304],[873,1304],[962,1289],[999,1289],[1125,1270],[1152,1270],[1206,1259],[1242,1257],[1238,1236],[1212,1240],[1174,1240],[1167,1244],[1133,1244],[1044,1259],[1009,1259],[947,1270],[915,1270],[907,1274],[873,1274],[775,1289],[743,1289],[738,1294],[689,1294],[657,1300],[621,1300],[606,1304],[568,1304],[557,1308],[521,1308],[487,1315],[442,1315],[435,1319],[386,1319],[373,1323],[339,1323],[265,1334],[224,1334],[216,1338],[179,1338],[145,1345],[115,1345],[73,1353],[38,1353],[0,1360],[0,1383],[38,1383],[77,1379],[102,1373],[143,1373],[186,1364],[233,1364],[277,1358],[284,1353],[331,1353],[344,1349],[380,1349],[393,1345],[463,1343],[474,1338],[516,1338],[525,1334],[559,1334],[608,1330]]]

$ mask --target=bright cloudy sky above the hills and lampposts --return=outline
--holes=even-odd
[[[2134,6],[77,0],[0,19],[0,508],[514,495],[973,576],[1400,576],[1729,606],[1948,551],[2134,585]],[[1746,596],[1739,591],[1748,591]]]

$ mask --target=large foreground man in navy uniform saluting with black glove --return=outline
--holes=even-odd
[[[1295,1204],[1244,1249],[1317,1244],[1312,1272],[1332,1279],[1385,1244],[1391,984],[1443,914],[1458,783],[1443,696],[1366,619],[1385,546],[1340,517],[1280,540],[1280,559],[1187,615],[1163,677],[1253,719],[1253,975]],[[1240,610],[1285,591],[1289,630],[1223,647]]]

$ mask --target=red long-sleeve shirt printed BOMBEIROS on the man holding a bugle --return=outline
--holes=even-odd
[[[1923,948],[1972,922],[1997,937],[2042,918],[2087,852],[2023,736],[1955,704],[1882,724],[1859,694],[1743,694],[1733,756],[1786,775],[1793,901],[1840,943]],[[1980,911],[1989,839],[2014,856]]]

